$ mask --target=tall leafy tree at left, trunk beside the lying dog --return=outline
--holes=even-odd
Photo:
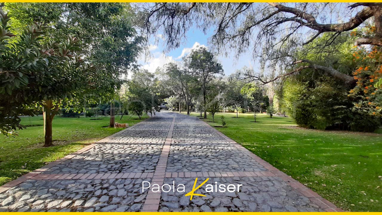
[[[87,103],[111,101],[110,126],[114,124],[114,100],[123,80],[120,77],[128,70],[137,68],[142,41],[136,36],[129,20],[131,8],[126,3],[7,3],[6,10],[14,14],[12,22],[16,30],[26,24],[39,21],[47,28],[46,38],[62,41],[65,35],[76,35],[81,39],[77,53],[85,56],[94,65],[87,81],[91,87],[78,91],[76,99],[66,98],[65,103],[76,111],[85,108],[79,97]],[[81,92],[81,93],[79,93]],[[51,104],[50,102],[47,104]],[[50,112],[57,113],[62,102],[52,100]],[[45,110],[49,106],[45,105]],[[48,116],[44,114],[44,116]]]

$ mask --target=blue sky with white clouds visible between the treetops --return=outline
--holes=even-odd
[[[149,70],[149,72],[155,72],[157,67],[162,67],[168,62],[180,61],[184,55],[189,54],[193,47],[206,46],[208,48],[207,39],[211,35],[212,31],[205,35],[199,29],[191,28],[187,33],[185,43],[178,49],[171,50],[168,53],[163,53],[164,47],[162,39],[159,39],[158,44],[154,44],[155,38],[151,38],[151,44],[149,47],[151,57],[145,60],[142,56],[139,63],[142,65],[142,68]],[[157,34],[157,37],[160,37],[160,34]],[[227,57],[217,54],[217,58],[223,66],[225,75],[229,75],[244,66],[251,67],[254,65],[254,61],[252,60],[252,55],[250,53],[242,54],[239,58],[236,58],[234,53]]]

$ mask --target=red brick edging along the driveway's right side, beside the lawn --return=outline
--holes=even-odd
[[[200,120],[201,122],[204,122]],[[283,181],[285,181],[287,184],[289,184],[291,187],[296,189],[298,192],[300,192],[302,195],[308,197],[314,204],[317,204],[319,207],[324,208],[327,212],[344,212],[341,208],[338,208],[335,206],[333,203],[329,202],[328,200],[322,198],[319,194],[316,192],[312,191],[308,187],[304,186],[300,182],[296,181],[293,179],[291,176],[288,176],[287,174],[283,173],[282,171],[278,170],[274,166],[272,166],[270,163],[267,161],[262,160],[259,156],[255,155],[239,143],[236,143],[234,140],[231,138],[227,137],[224,135],[222,132],[216,130],[214,127],[209,125],[207,122],[204,122],[206,125],[211,127],[217,134],[219,134],[221,137],[223,137],[225,140],[227,140],[229,143],[232,143],[238,150],[240,150],[243,154],[246,154],[256,160],[260,165],[264,166],[265,169],[268,171],[261,171],[261,172],[255,172],[256,174],[274,174],[275,176],[278,176],[281,178]],[[240,174],[242,173],[252,173],[252,172],[238,172]],[[222,174],[223,176],[223,174]],[[265,175],[264,175],[265,176]],[[270,176],[270,175],[269,175]]]

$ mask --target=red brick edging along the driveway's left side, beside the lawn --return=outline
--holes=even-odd
[[[150,117],[148,117],[147,119],[150,119]],[[144,122],[144,121],[146,121],[147,119],[144,119],[144,120],[142,120],[141,122]],[[139,122],[136,123],[136,124],[134,124],[134,125],[132,125],[130,128],[134,127],[134,126],[137,125],[137,124],[139,124]],[[63,158],[60,158],[60,159],[58,159],[58,160],[55,160],[55,161],[53,161],[53,162],[51,162],[51,163],[49,163],[49,164],[47,164],[47,165],[45,165],[45,166],[42,166],[41,168],[35,169],[34,171],[32,171],[32,172],[30,172],[30,173],[27,173],[27,174],[25,174],[25,175],[23,175],[23,176],[20,176],[19,178],[15,179],[15,180],[13,180],[13,181],[10,181],[10,182],[4,184],[3,186],[0,186],[0,194],[1,194],[2,192],[5,192],[5,191],[9,190],[11,187],[14,187],[14,186],[16,186],[16,185],[18,185],[18,184],[21,184],[22,182],[24,182],[24,181],[26,181],[26,180],[29,180],[29,179],[37,179],[37,178],[44,178],[44,179],[58,179],[57,177],[55,177],[55,175],[57,176],[57,175],[62,175],[62,174],[47,174],[47,175],[50,175],[50,177],[49,177],[49,176],[41,176],[41,177],[37,177],[37,178],[35,178],[35,177],[38,176],[39,174],[42,174],[44,171],[46,171],[46,170],[52,168],[53,166],[56,166],[56,165],[58,165],[58,164],[60,164],[60,163],[62,163],[62,162],[64,162],[64,161],[66,161],[66,160],[69,160],[69,159],[73,158],[73,157],[76,156],[76,155],[79,155],[79,154],[81,154],[81,153],[84,153],[85,151],[87,151],[87,150],[89,150],[89,149],[95,147],[95,146],[98,145],[99,143],[103,143],[103,142],[107,142],[107,141],[109,141],[110,138],[113,137],[113,135],[116,135],[116,134],[118,134],[118,133],[120,133],[120,132],[123,132],[124,130],[125,130],[125,129],[123,129],[123,130],[121,130],[121,131],[119,131],[119,132],[117,132],[117,133],[114,133],[114,134],[112,134],[112,135],[110,135],[110,136],[108,136],[108,137],[105,137],[105,138],[103,138],[102,140],[99,140],[99,141],[97,141],[97,142],[95,142],[95,143],[92,143],[92,144],[90,144],[90,145],[87,145],[86,147],[83,147],[83,148],[81,148],[80,150],[78,150],[78,151],[76,151],[76,152],[73,152],[73,153],[71,153],[71,154],[69,154],[69,155],[66,155],[66,156],[63,157]],[[46,178],[45,178],[45,177],[46,177]],[[66,177],[66,178],[68,178],[68,177]],[[65,178],[65,179],[66,179],[66,178]],[[72,176],[71,178],[74,179],[74,176]]]

